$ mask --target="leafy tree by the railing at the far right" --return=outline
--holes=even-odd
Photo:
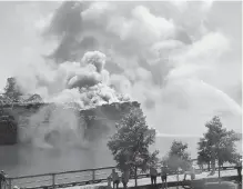
[[[220,118],[216,116],[206,122],[205,127],[207,131],[201,139],[203,142],[199,142],[200,151],[198,158],[203,158],[203,160],[207,160],[209,158],[212,162],[213,172],[215,170],[215,162],[217,161],[220,178],[220,167],[224,162],[234,162],[235,157],[237,157],[235,141],[239,138],[233,130],[227,131],[223,128]]]

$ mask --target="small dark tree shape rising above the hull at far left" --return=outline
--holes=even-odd
[[[20,91],[20,87],[17,83],[16,78],[8,78],[7,84],[4,88],[4,98],[10,99],[11,101],[18,101],[20,96],[22,96]]]

